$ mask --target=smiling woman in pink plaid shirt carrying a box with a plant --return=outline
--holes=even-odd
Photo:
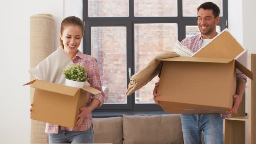
[[[61,23],[59,33],[60,46],[62,46],[75,65],[80,63],[87,68],[87,81],[93,88],[102,91],[97,60],[78,50],[83,31],[84,26],[82,20],[75,16],[66,17]],[[77,127],[75,128],[66,128],[46,123],[45,132],[49,134],[49,143],[93,143],[92,110],[103,104],[104,97],[103,92],[97,95],[87,94],[86,106],[80,108],[81,112],[77,115],[78,121],[76,123]]]

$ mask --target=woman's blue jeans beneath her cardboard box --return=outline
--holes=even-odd
[[[86,131],[65,131],[59,126],[58,134],[49,134],[49,144],[82,144],[93,143],[92,125]]]

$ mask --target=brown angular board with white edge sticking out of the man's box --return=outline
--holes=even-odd
[[[246,49],[236,41],[230,32],[224,29],[219,35],[215,36],[209,44],[195,52],[194,56],[234,59],[244,50]]]

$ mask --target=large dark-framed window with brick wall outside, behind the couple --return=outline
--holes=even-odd
[[[220,7],[217,32],[227,27],[227,0]],[[95,111],[162,111],[154,104],[151,82],[125,95],[129,77],[171,42],[200,33],[197,7],[204,0],[85,0],[84,53],[98,60],[105,104]]]

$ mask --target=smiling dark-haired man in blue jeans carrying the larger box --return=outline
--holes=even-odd
[[[200,34],[184,39],[181,43],[196,52],[202,46],[210,42],[218,33],[216,25],[220,21],[220,9],[212,3],[206,2],[197,8],[197,25]],[[223,118],[230,118],[230,114],[236,113],[245,92],[246,76],[236,75],[237,87],[236,95],[233,95],[234,105],[231,111],[226,114],[181,114],[182,132],[184,144],[201,144],[201,133],[204,133],[206,144],[223,144]],[[153,91],[155,100],[159,83],[157,82]]]

